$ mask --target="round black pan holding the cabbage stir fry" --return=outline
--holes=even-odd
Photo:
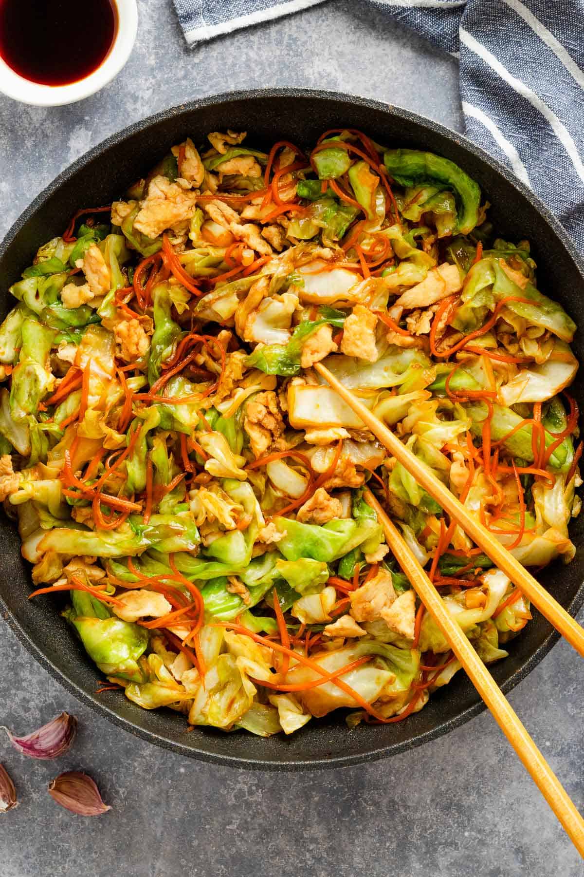
[[[429,119],[361,97],[296,89],[230,93],[194,101],[131,125],[96,146],[62,173],[25,210],[0,246],[2,314],[11,307],[9,285],[30,265],[37,248],[63,232],[75,210],[109,203],[144,175],[174,143],[186,135],[195,144],[207,132],[248,131],[250,144],[269,148],[278,139],[313,144],[321,132],[339,126],[361,128],[388,146],[428,149],[460,164],[491,203],[489,217],[506,239],[529,239],[538,263],[538,286],[557,298],[578,324],[584,323],[583,264],[559,223],[509,171],[460,134]],[[582,359],[582,337],[574,343]],[[573,391],[584,409],[582,381]],[[573,615],[584,600],[584,515],[576,519],[573,562],[553,565],[541,581]],[[361,725],[348,731],[339,714],[311,721],[291,738],[253,737],[195,728],[186,733],[184,716],[171,710],[148,712],[122,694],[95,695],[98,675],[71,629],[60,617],[55,598],[28,601],[30,571],[21,559],[16,529],[0,520],[0,597],[4,615],[18,638],[66,688],[126,731],[194,758],[242,767],[299,769],[332,767],[403,752],[439,737],[484,709],[475,689],[458,674],[443,693],[403,723]],[[538,664],[558,634],[534,612],[533,621],[510,644],[510,657],[494,665],[493,675],[509,691]]]

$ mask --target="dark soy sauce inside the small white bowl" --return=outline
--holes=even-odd
[[[116,38],[114,0],[0,0],[0,55],[42,85],[78,82]]]

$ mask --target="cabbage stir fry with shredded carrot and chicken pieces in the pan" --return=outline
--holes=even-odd
[[[482,660],[529,602],[323,383],[524,566],[572,559],[575,325],[453,162],[326,132],[186,139],[11,287],[0,490],[108,683],[269,736],[403,720],[460,669],[368,485]]]

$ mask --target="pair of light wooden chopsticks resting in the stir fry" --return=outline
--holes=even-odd
[[[313,368],[327,381],[339,396],[355,411],[362,422],[367,426],[382,445],[396,458],[407,471],[412,474],[418,483],[427,490],[430,496],[440,503],[442,508],[454,518],[464,531],[474,539],[476,545],[489,556],[496,567],[509,576],[510,580],[537,606],[538,610],[547,620],[573,645],[577,652],[584,657],[584,630],[577,624],[573,617],[556,602],[552,595],[539,584],[533,576],[507,551],[504,545],[493,537],[492,533],[483,527],[475,518],[471,517],[468,510],[462,505],[453,493],[426,468],[418,458],[381,423],[374,414],[369,411],[350,390],[338,381],[334,374],[328,371],[321,362],[315,363]],[[496,723],[499,725],[505,737],[513,746],[521,759],[524,767],[531,774],[531,779],[537,785],[539,791],[552,808],[559,822],[563,825],[568,837],[572,840],[580,856],[584,858],[584,819],[575,808],[572,800],[566,794],[566,790],[559,782],[552,768],[548,765],[544,756],[531,739],[524,724],[503,692],[496,684],[489,670],[482,663],[475,649],[470,644],[461,627],[447,610],[433,582],[430,581],[424,569],[420,566],[412,550],[406,545],[404,538],[398,532],[391,519],[387,516],[375,496],[369,489],[365,490],[364,498],[369,505],[376,510],[377,516],[383,524],[385,539],[390,546],[399,566],[412,583],[412,587],[420,600],[426,606],[426,610],[433,616],[434,621],[440,627],[440,631],[447,638],[450,648],[461,662],[470,681],[472,681],[482,700],[489,707]]]

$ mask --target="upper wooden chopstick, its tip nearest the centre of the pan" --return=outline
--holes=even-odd
[[[527,572],[525,567],[507,551],[493,533],[469,514],[458,497],[451,493],[446,485],[433,474],[432,470],[420,462],[415,454],[385,424],[369,409],[365,408],[362,402],[334,377],[334,374],[329,372],[327,367],[323,366],[321,362],[317,362],[313,368],[336,390],[348,406],[355,411],[355,414],[361,417],[363,424],[367,426],[369,431],[373,432],[391,455],[399,460],[419,485],[427,490],[437,503],[440,503],[441,507],[457,524],[461,525],[462,529],[474,539],[476,545],[482,548],[482,551],[489,556],[495,566],[509,576],[522,594],[531,600],[534,606],[537,606],[550,624],[584,658],[584,630],[580,624],[574,621],[573,617],[566,612],[563,606],[559,605],[557,600],[553,599],[552,595],[533,578],[531,573]]]

